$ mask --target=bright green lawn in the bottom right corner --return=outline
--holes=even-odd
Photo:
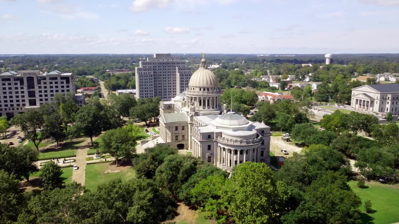
[[[357,181],[349,181],[348,184],[352,190],[361,198],[364,203],[369,199],[372,204],[373,214],[365,214],[363,220],[366,221],[369,216],[373,218],[374,224],[390,224],[399,222],[399,185],[387,185],[378,182],[366,182],[366,187],[360,189],[356,186]],[[360,210],[364,212],[364,204]]]

